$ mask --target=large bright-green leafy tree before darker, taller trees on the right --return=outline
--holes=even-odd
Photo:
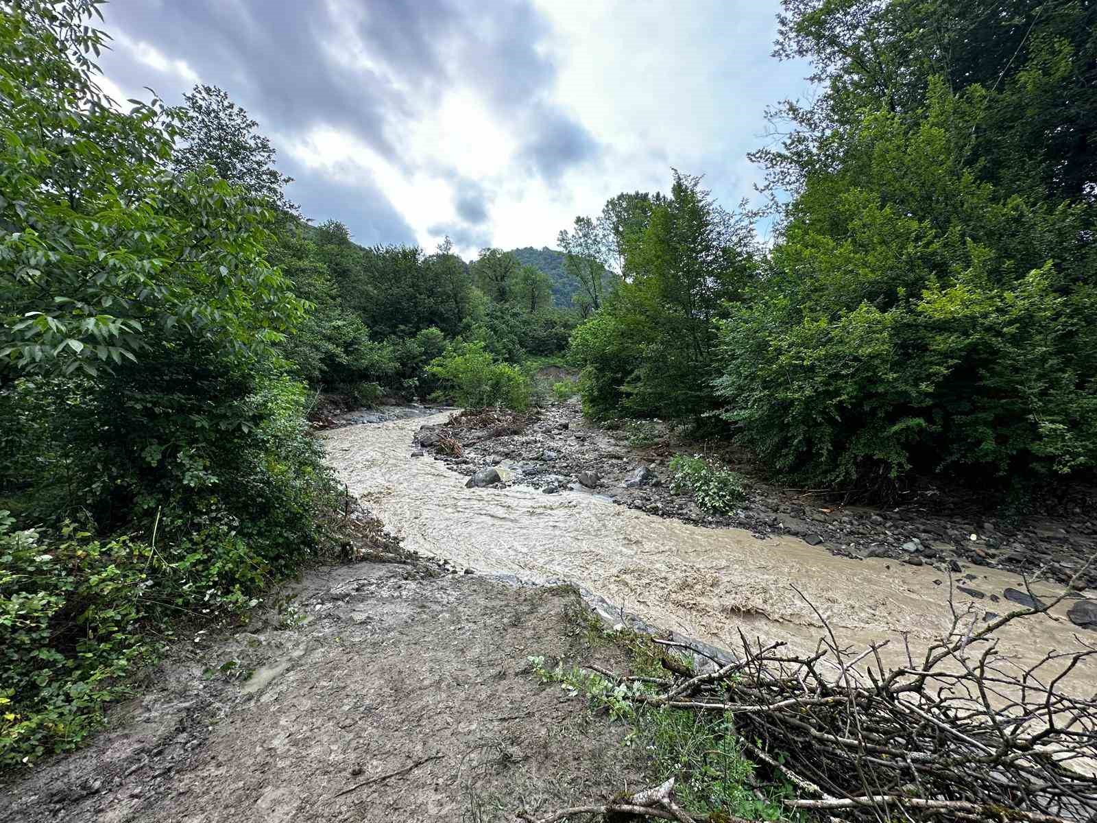
[[[715,381],[777,469],[884,491],[1097,460],[1095,212],[981,181],[981,111],[931,82],[914,121],[863,115],[806,176],[773,271],[722,324]]]

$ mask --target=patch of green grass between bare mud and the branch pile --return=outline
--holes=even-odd
[[[661,647],[630,630],[607,628],[593,613],[576,609],[572,618],[577,631],[593,646],[624,646],[631,656],[632,674],[665,678]],[[679,658],[690,665],[686,658]],[[558,684],[573,696],[583,696],[590,708],[611,720],[627,723],[632,730],[627,745],[647,753],[654,771],[653,782],[675,778],[678,802],[694,815],[734,814],[750,820],[790,820],[781,800],[791,797],[791,787],[761,785],[756,764],[743,753],[743,742],[735,732],[731,714],[701,714],[683,709],[654,707],[636,702],[642,692],[654,694],[655,686],[641,683],[618,684],[578,666],[546,668],[543,657],[530,657],[533,674],[543,683]]]

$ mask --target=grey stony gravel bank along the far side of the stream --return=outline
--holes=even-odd
[[[514,421],[508,425],[511,418]],[[441,436],[457,440],[461,455],[440,444]],[[1097,552],[1097,503],[1092,489],[1070,489],[1043,515],[1003,518],[948,494],[921,495],[912,504],[883,509],[844,506],[833,497],[755,480],[740,508],[726,515],[705,512],[688,496],[669,489],[670,458],[701,444],[677,440],[657,424],[642,429],[599,428],[584,419],[575,401],[522,417],[501,413],[454,418],[453,425],[421,429],[416,440],[462,474],[498,466],[501,485],[522,483],[547,494],[562,488],[588,491],[661,517],[743,528],[759,538],[791,534],[833,554],[891,557],[935,565],[942,573],[959,574],[971,565],[1028,574],[1042,570],[1044,578],[1067,583]],[[637,478],[641,466],[651,476]],[[1092,566],[1076,585],[1097,586],[1097,567]]]

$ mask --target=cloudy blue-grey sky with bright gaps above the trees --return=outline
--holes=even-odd
[[[777,0],[112,0],[104,89],[218,86],[287,196],[362,245],[555,247],[621,191],[703,174],[754,194],[765,109],[807,93],[770,57]]]

